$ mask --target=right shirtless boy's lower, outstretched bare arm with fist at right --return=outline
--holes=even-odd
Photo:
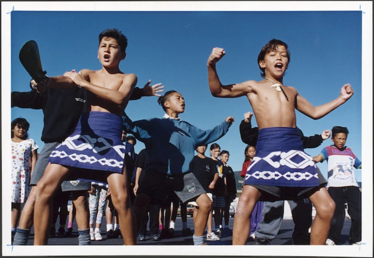
[[[306,99],[296,94],[295,108],[304,115],[312,119],[320,119],[333,111],[335,108],[345,103],[353,95],[353,89],[350,84],[345,84],[340,89],[340,96],[333,101],[314,107]]]

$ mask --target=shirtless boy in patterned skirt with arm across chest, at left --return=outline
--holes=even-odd
[[[136,243],[135,216],[130,204],[125,146],[121,141],[122,120],[132,91],[135,74],[119,70],[126,57],[127,39],[117,29],[99,35],[98,59],[102,69],[83,69],[65,76],[49,77],[48,87],[82,87],[87,90],[87,105],[73,134],[51,153],[43,177],[37,183],[34,208],[34,245],[47,244],[51,224],[51,204],[56,189],[66,178],[107,181],[125,244]],[[33,81],[34,86],[37,84]],[[86,220],[88,218],[83,218]],[[85,224],[78,221],[77,224]],[[122,230],[126,229],[126,230]]]

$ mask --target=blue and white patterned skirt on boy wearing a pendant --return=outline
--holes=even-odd
[[[319,185],[313,158],[304,152],[297,128],[270,127],[258,132],[256,155],[245,184],[314,187]]]

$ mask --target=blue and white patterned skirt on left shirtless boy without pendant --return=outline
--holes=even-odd
[[[52,151],[49,162],[93,171],[122,173],[122,119],[112,113],[82,114],[74,132]]]

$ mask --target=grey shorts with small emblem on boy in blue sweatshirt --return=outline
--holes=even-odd
[[[189,200],[194,201],[197,197],[206,193],[193,173],[185,173],[172,178],[174,179],[174,192],[178,195],[179,199],[181,199],[182,203]]]

